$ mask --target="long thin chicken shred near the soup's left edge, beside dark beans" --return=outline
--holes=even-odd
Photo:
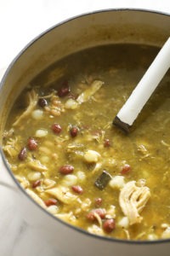
[[[28,107],[26,108],[25,112],[23,112],[18,119],[14,122],[13,126],[19,125],[20,121],[22,119],[25,119],[31,112],[32,110],[36,107],[37,105],[37,93],[35,90],[31,90],[27,92],[27,101],[28,101]]]

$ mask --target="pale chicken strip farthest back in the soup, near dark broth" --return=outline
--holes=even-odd
[[[99,80],[94,80],[94,82],[84,90],[81,95],[77,97],[77,102],[82,104],[83,102],[88,102],[89,98],[94,95],[94,93],[99,90],[99,88],[104,84],[104,82]]]

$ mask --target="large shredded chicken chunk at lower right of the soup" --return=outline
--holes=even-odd
[[[135,183],[135,181],[126,183],[119,195],[119,204],[130,225],[142,221],[139,212],[142,212],[150,198],[150,189],[145,186],[137,187]]]

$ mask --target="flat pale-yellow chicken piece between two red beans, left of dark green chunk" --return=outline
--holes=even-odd
[[[56,199],[67,205],[71,204],[72,201],[75,201],[77,199],[77,195],[73,195],[70,189],[63,186],[58,186],[53,189],[47,189],[46,192],[49,195],[54,195]]]

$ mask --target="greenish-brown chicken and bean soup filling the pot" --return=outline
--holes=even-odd
[[[128,135],[112,125],[157,52],[86,49],[39,74],[14,103],[8,165],[54,216],[99,236],[170,237],[169,73]]]

